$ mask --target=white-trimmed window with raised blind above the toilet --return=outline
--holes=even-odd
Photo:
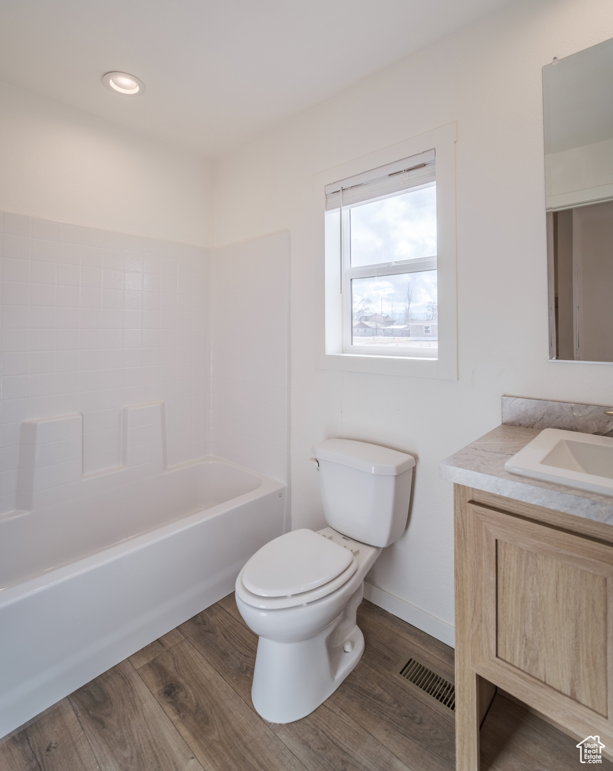
[[[450,123],[315,175],[322,369],[457,379],[456,138]]]

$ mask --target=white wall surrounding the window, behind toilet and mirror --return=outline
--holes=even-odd
[[[217,245],[291,231],[293,527],[323,523],[307,462],[312,443],[348,436],[414,453],[409,528],[371,580],[406,601],[410,618],[419,621],[417,608],[439,619],[446,639],[453,623],[453,510],[439,461],[500,423],[504,393],[613,398],[611,367],[547,362],[541,96],[542,66],[611,36],[610,0],[520,2],[217,164]],[[317,369],[323,213],[313,204],[313,175],[453,120],[459,381]]]

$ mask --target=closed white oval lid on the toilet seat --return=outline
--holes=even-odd
[[[353,554],[313,530],[292,530],[261,547],[244,566],[243,585],[260,597],[290,597],[328,584]]]

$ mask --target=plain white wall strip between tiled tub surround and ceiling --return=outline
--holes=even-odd
[[[207,246],[211,164],[0,83],[0,210]]]

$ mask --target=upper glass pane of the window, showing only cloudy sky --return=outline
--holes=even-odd
[[[436,183],[350,209],[352,268],[436,257]]]

